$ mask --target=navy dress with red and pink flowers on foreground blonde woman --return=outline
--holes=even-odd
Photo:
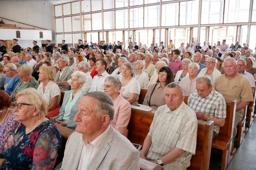
[[[57,127],[44,121],[32,132],[25,134],[26,126],[17,127],[4,150],[6,162],[3,169],[53,169],[61,147]]]

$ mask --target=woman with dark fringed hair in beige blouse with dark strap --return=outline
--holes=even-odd
[[[165,105],[165,87],[172,82],[174,82],[172,69],[170,67],[160,68],[157,82],[148,87],[143,104],[154,110]]]

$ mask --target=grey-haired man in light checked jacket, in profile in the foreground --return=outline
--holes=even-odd
[[[138,150],[111,126],[113,105],[101,91],[81,98],[74,118],[76,132],[67,141],[61,170],[140,169]]]

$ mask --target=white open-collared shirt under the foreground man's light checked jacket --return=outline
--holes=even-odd
[[[92,142],[88,144],[87,139],[85,138],[85,141],[83,140],[83,135],[80,138],[80,142],[83,146],[80,162],[78,165],[77,170],[83,170],[86,169],[88,164],[90,163],[91,159],[93,159],[94,155],[96,154],[97,150],[99,149],[99,146],[101,142],[103,141],[106,134],[109,132],[109,127],[96,139],[94,139]]]

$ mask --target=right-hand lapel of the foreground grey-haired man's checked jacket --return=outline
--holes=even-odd
[[[114,136],[114,130],[110,125],[109,132],[106,134],[103,141],[101,142],[98,151],[94,155],[93,159],[91,159],[91,162],[87,166],[87,169],[98,169],[103,158],[105,157],[106,153],[110,149],[109,143],[112,142],[113,136]]]

